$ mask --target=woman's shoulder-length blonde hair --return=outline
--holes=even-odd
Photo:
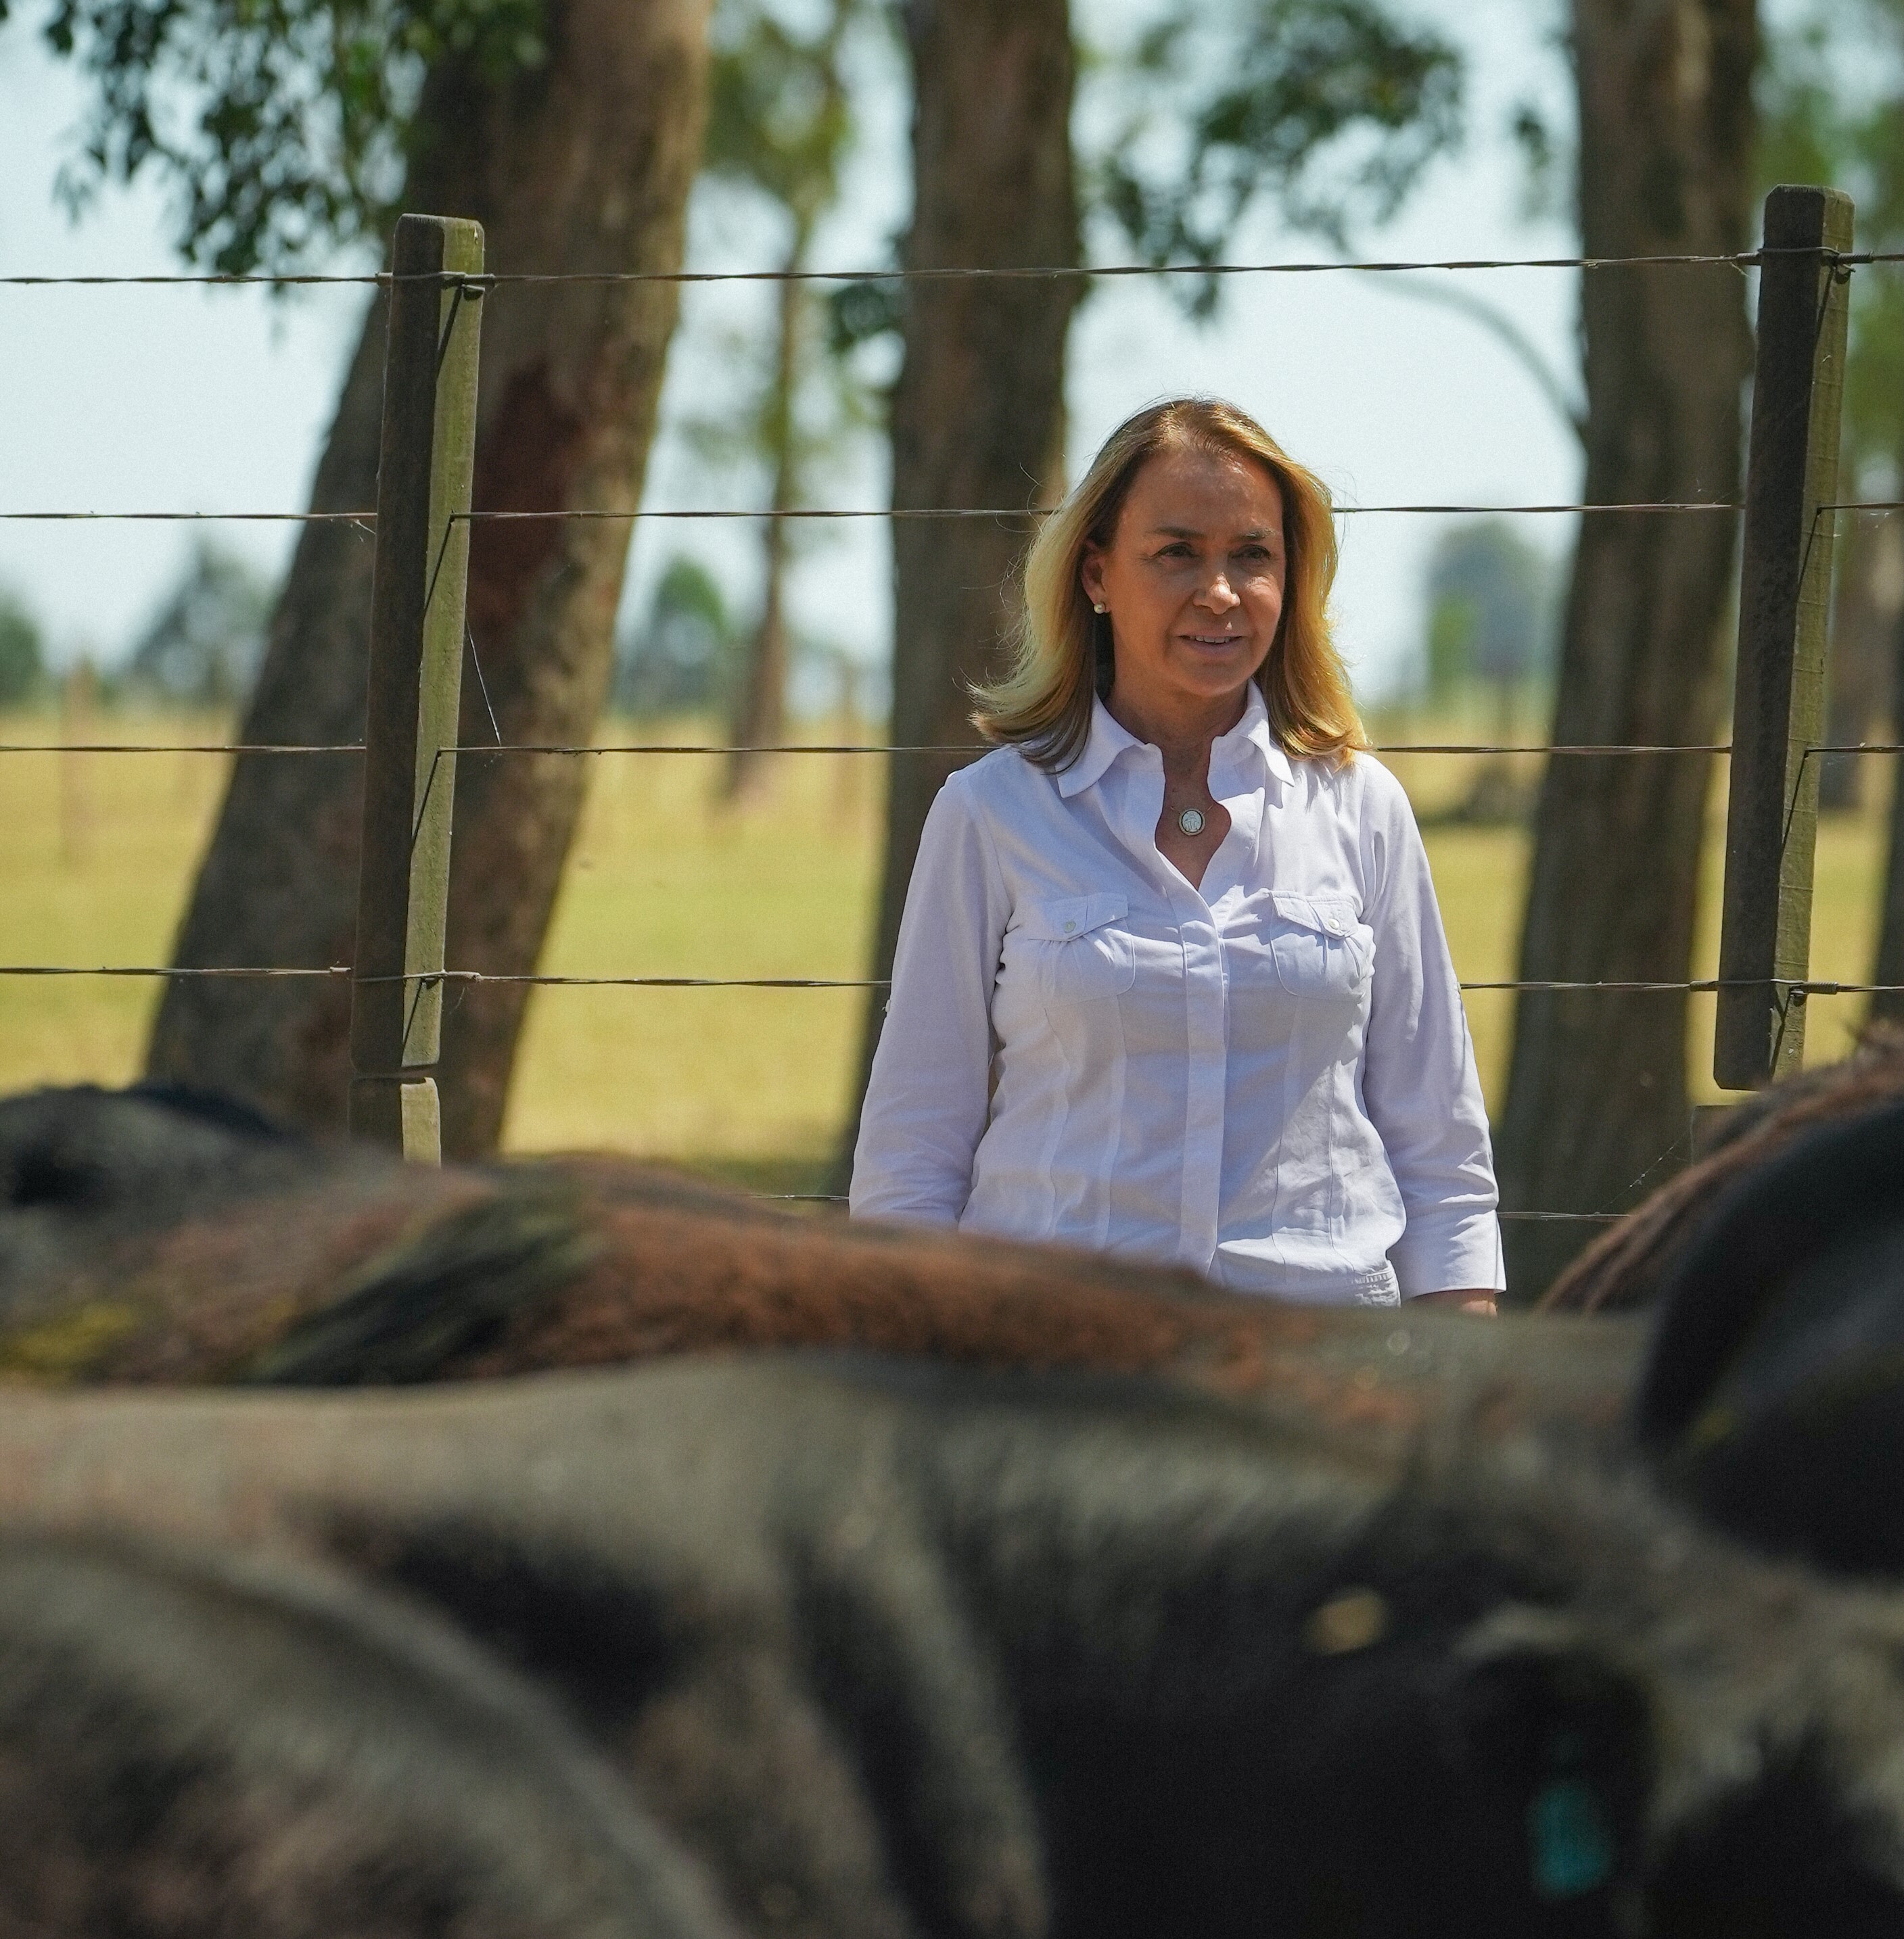
[[[1002,679],[973,688],[971,725],[987,741],[1014,743],[1053,772],[1084,752],[1092,700],[1109,690],[1111,679],[1111,622],[1092,611],[1084,593],[1084,555],[1111,545],[1138,471],[1169,450],[1258,463],[1282,491],[1287,556],[1282,622],[1254,679],[1284,752],[1348,760],[1369,743],[1328,630],[1338,556],[1328,487],[1247,411],[1220,397],[1171,397],[1111,432],[1031,543],[1012,663]]]

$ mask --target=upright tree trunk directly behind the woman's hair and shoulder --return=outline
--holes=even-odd
[[[907,0],[913,223],[907,270],[1078,262],[1066,0]],[[917,281],[892,396],[894,508],[1035,506],[1063,493],[1064,335],[1072,277]],[[894,520],[892,739],[975,741],[971,681],[1014,622],[1031,522]],[[927,809],[969,754],[898,754],[886,801],[874,977],[892,952]],[[874,997],[845,1158],[857,1136],[884,1001]]]

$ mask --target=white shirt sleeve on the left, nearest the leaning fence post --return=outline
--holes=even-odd
[[[905,890],[892,997],[853,1150],[855,1218],[954,1225],[991,1109],[991,993],[1010,902],[962,776],[938,791]]]

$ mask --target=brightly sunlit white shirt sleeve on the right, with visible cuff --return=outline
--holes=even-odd
[[[1495,1161],[1474,1041],[1427,849],[1402,785],[1369,756],[1365,847],[1375,987],[1363,1103],[1388,1150],[1408,1227],[1390,1247],[1402,1297],[1507,1287]]]

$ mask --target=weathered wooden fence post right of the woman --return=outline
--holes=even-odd
[[[1759,365],[1745,477],[1739,671],[1712,1076],[1751,1090],[1805,1053],[1811,865],[1819,830],[1825,636],[1852,198],[1774,188],[1759,268]]]

